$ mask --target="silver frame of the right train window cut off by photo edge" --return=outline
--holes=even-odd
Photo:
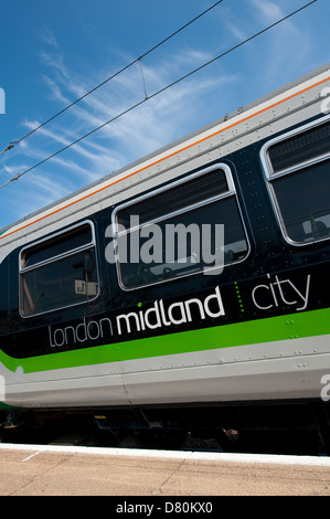
[[[288,235],[288,232],[287,232],[287,229],[286,229],[286,222],[284,221],[283,214],[281,214],[281,209],[280,209],[280,205],[278,203],[275,189],[273,187],[273,181],[275,181],[279,178],[287,177],[289,174],[297,173],[298,171],[302,171],[307,167],[312,167],[312,166],[316,166],[318,163],[324,162],[326,160],[329,160],[330,159],[330,151],[329,151],[328,155],[321,155],[319,157],[313,157],[310,160],[299,162],[299,163],[295,165],[294,167],[283,169],[283,170],[275,173],[274,170],[273,170],[273,165],[272,165],[272,161],[270,161],[270,158],[269,158],[268,150],[269,150],[269,148],[272,148],[272,146],[274,146],[276,144],[284,142],[284,141],[290,139],[291,137],[296,137],[300,134],[304,134],[305,131],[308,131],[312,128],[321,126],[321,125],[323,125],[324,123],[327,123],[329,120],[330,120],[330,115],[328,115],[326,117],[321,117],[320,119],[313,120],[313,121],[308,123],[306,125],[299,126],[298,128],[295,128],[294,130],[287,131],[285,134],[281,134],[278,137],[275,137],[272,140],[268,140],[260,149],[259,155],[260,155],[263,171],[265,173],[266,181],[267,181],[267,191],[268,191],[268,194],[269,194],[269,198],[270,198],[270,202],[272,202],[275,215],[278,220],[281,234],[283,234],[283,236],[284,236],[284,239],[287,243],[289,243],[290,245],[294,245],[296,247],[310,246],[315,243],[319,243],[319,242],[323,242],[326,240],[329,240],[330,236],[317,237],[317,239],[313,239],[310,242],[305,242],[305,243],[304,242],[296,242],[295,240],[292,240]],[[292,198],[292,201],[294,201],[294,198]]]

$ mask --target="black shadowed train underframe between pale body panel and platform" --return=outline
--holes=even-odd
[[[6,443],[330,455],[330,404],[254,402],[1,412]]]

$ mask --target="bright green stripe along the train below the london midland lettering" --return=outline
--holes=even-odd
[[[33,373],[79,366],[321,336],[330,332],[329,322],[330,309],[327,308],[92,348],[57,351],[56,353],[28,359],[13,359],[0,352],[0,361],[11,371],[15,371],[21,367],[25,373]]]

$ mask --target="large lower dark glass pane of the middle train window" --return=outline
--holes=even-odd
[[[215,224],[223,224],[224,240],[221,246],[224,251],[224,265],[243,260],[248,247],[237,202],[232,195],[163,220],[158,225],[150,225],[150,235],[146,233],[147,237],[138,236],[139,230],[119,239],[123,285],[136,288],[212,268],[214,263],[212,264],[211,260],[215,253],[213,244],[220,243],[214,235]],[[174,233],[173,226],[178,230],[178,225],[181,225],[181,231]],[[203,241],[202,233],[206,231],[202,225],[209,225],[210,241],[209,239]],[[143,231],[148,231],[148,226]],[[131,251],[131,244],[135,245],[137,241],[139,241],[140,261],[136,256],[136,250]],[[207,250],[203,250],[205,244]],[[148,248],[155,261],[150,263],[142,261],[143,246]],[[121,258],[120,250],[124,251]]]

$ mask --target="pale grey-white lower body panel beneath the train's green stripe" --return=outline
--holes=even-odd
[[[330,336],[15,373],[6,403],[26,407],[318,399]]]

